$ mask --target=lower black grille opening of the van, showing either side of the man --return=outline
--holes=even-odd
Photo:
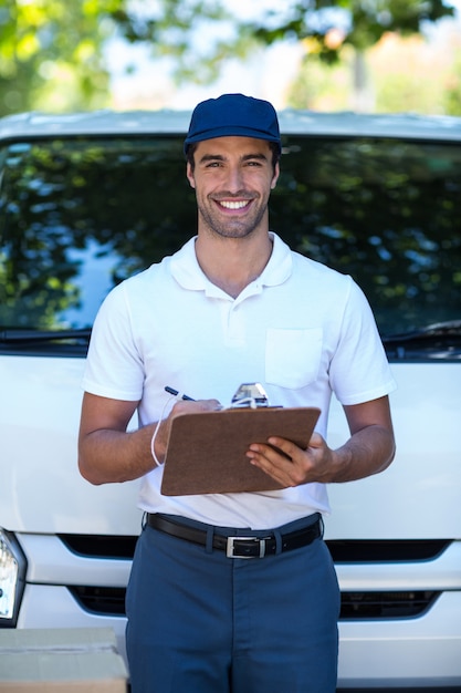
[[[99,616],[124,616],[123,587],[69,587],[80,606]],[[343,592],[339,620],[416,618],[430,609],[440,592]]]

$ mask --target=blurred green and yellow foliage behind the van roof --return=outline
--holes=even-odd
[[[433,59],[425,34],[454,14],[448,1],[286,0],[255,2],[247,13],[234,6],[0,0],[0,115],[112,105],[107,46],[114,41],[146,46],[153,61],[168,56],[179,87],[212,83],[230,59],[296,43],[302,60],[286,105],[461,114],[459,32],[443,60]]]

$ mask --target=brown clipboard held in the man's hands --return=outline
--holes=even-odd
[[[317,407],[237,407],[181,414],[172,420],[164,464],[165,496],[280,490],[245,456],[251,443],[280,436],[306,448]]]

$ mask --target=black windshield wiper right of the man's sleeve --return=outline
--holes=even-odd
[[[423,354],[434,359],[461,355],[461,320],[434,322],[410,332],[388,334],[383,343],[390,355],[408,359]]]

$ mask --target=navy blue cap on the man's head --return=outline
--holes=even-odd
[[[190,118],[185,139],[185,153],[189,145],[214,137],[254,137],[275,142],[281,149],[279,121],[275,108],[269,101],[223,94],[199,103]]]

